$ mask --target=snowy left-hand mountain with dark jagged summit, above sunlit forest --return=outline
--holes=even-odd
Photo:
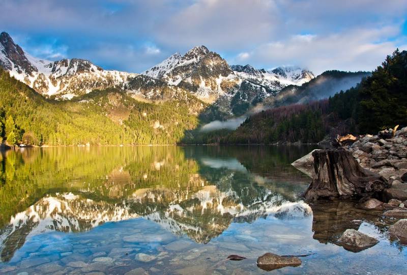
[[[42,60],[30,56],[9,34],[0,34],[0,66],[40,94],[72,98],[94,89],[124,89],[137,74],[107,71],[83,59]]]

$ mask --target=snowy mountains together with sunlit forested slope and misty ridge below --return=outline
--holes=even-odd
[[[205,46],[129,73],[83,59],[35,58],[3,32],[0,123],[14,125],[13,144],[24,133],[33,145],[199,143],[204,129],[233,130],[255,113],[327,98],[369,74],[326,71],[315,77],[296,66],[229,65]],[[0,131],[4,140],[10,131]],[[200,142],[208,143],[206,134]]]

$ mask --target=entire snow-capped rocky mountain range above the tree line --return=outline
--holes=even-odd
[[[241,113],[238,107],[242,108],[242,104],[245,112],[250,104],[315,77],[299,67],[257,70],[250,65],[229,66],[205,46],[194,47],[184,55],[175,53],[141,74],[104,70],[83,59],[48,61],[32,57],[5,32],[0,34],[0,66],[36,92],[56,99],[72,99],[107,88],[117,88],[148,101],[190,94],[217,105],[228,115]]]

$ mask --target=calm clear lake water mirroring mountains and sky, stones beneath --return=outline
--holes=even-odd
[[[266,252],[310,251],[301,267],[275,272],[404,273],[404,247],[388,240],[385,225],[353,206],[302,201],[310,179],[289,163],[312,149],[8,151],[0,165],[0,273],[263,273],[255,260]],[[381,242],[357,254],[334,244],[359,227]],[[230,254],[247,259],[228,261]]]

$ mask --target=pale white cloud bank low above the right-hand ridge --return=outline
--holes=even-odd
[[[386,38],[397,33],[399,29],[395,26],[385,26],[325,36],[294,35],[257,46],[250,52],[250,61],[271,66],[296,64],[315,73],[327,69],[368,71],[375,69],[387,54],[396,49],[398,41],[387,41]]]

